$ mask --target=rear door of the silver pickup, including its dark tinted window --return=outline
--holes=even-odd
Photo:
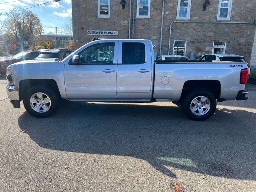
[[[118,50],[117,98],[148,99],[152,80],[150,44],[146,41],[122,41]]]

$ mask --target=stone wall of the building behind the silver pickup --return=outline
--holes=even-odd
[[[136,0],[135,0],[136,1]],[[111,0],[110,18],[98,18],[98,1],[72,0],[73,14],[73,36],[76,48],[90,42],[94,36],[87,35],[87,30],[117,30],[118,36],[95,36],[98,38],[129,38],[129,11],[130,2],[132,3],[131,18],[133,14],[133,0],[126,0],[125,9],[122,9],[120,0]],[[164,1],[164,22],[162,30],[162,49],[161,54],[170,54],[173,51],[174,40],[185,40],[186,56],[194,53],[194,58],[206,53],[212,52],[213,41],[226,41],[226,52],[230,54],[243,55],[250,62],[254,34],[256,26],[253,24],[256,19],[256,1],[233,0],[231,20],[218,22],[218,2],[219,0],[210,0],[210,6],[203,11],[204,0],[192,0],[190,20],[195,23],[172,24],[171,40],[170,24],[176,21],[178,0]],[[134,30],[132,22],[130,24],[134,31],[134,38],[150,39],[156,48],[154,52],[160,53],[160,35],[162,18],[162,0],[151,0],[150,18],[135,18]],[[208,23],[196,23],[196,22]],[[221,22],[236,22],[236,24],[224,24]],[[250,24],[241,24],[246,22]]]

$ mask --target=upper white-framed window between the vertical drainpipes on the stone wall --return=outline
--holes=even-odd
[[[137,18],[150,18],[150,1],[137,0]]]

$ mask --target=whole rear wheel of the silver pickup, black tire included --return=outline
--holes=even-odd
[[[211,92],[207,90],[196,90],[184,98],[181,106],[188,118],[202,121],[212,116],[216,110],[217,102]]]

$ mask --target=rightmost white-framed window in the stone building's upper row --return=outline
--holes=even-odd
[[[219,0],[217,20],[230,20],[232,0]]]

